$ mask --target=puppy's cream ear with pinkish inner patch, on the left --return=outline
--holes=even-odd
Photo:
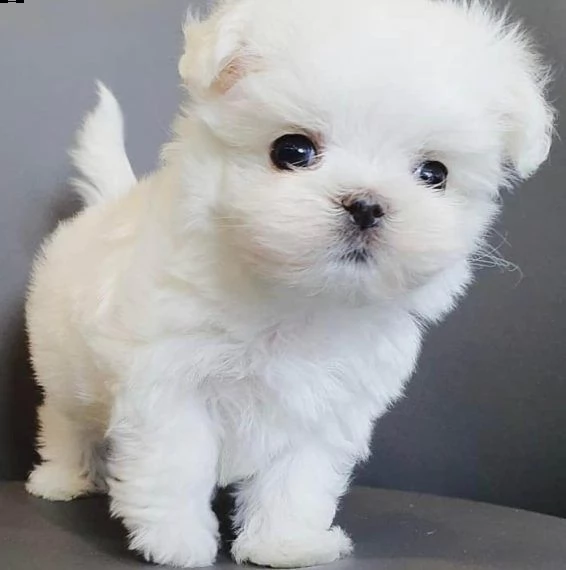
[[[225,93],[248,71],[253,58],[244,42],[245,5],[245,0],[224,0],[207,18],[187,15],[179,73],[193,95]]]

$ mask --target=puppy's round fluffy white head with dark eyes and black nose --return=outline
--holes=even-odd
[[[398,298],[473,254],[546,159],[545,68],[481,3],[343,6],[228,0],[187,26],[189,120],[221,161],[200,203],[267,281]]]

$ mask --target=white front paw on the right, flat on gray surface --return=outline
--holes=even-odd
[[[302,568],[334,562],[352,552],[352,541],[339,527],[292,538],[240,535],[232,547],[239,564],[252,562],[272,568]]]

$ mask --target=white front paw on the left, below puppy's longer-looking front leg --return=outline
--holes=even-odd
[[[148,562],[174,568],[203,568],[214,564],[218,539],[213,531],[195,529],[179,521],[178,525],[138,527],[130,531],[129,546]]]

